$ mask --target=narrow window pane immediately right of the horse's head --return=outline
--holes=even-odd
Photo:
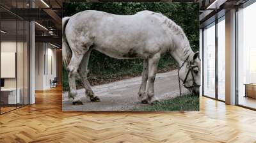
[[[215,22],[204,29],[204,96],[215,98]]]

